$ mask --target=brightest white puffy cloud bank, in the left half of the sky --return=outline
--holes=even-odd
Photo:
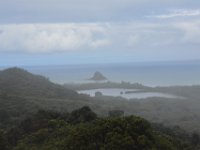
[[[1,51],[49,53],[103,47],[109,44],[99,24],[0,25]]]

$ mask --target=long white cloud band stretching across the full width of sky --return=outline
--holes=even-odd
[[[200,22],[64,23],[0,25],[0,52],[59,53],[174,50],[199,47]],[[195,43],[196,47],[192,44]]]

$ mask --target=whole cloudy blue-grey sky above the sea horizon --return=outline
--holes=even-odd
[[[0,0],[0,65],[200,60],[199,0]]]

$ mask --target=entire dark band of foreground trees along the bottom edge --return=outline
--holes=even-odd
[[[98,118],[87,106],[71,113],[40,110],[0,132],[4,150],[197,150],[199,144],[198,135],[152,127],[136,116]]]

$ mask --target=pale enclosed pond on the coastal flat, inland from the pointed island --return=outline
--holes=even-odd
[[[164,97],[164,98],[180,98],[175,95],[170,95],[170,94],[164,94],[164,93],[158,93],[158,92],[139,92],[139,93],[128,93],[126,94],[126,91],[130,91],[130,89],[93,89],[93,90],[81,90],[78,91],[78,93],[81,94],[87,94],[92,97],[95,96],[96,92],[101,92],[105,96],[121,96],[126,99],[131,99],[131,98],[137,98],[137,99],[143,99],[143,98],[149,98],[149,97]],[[138,90],[131,90],[131,91],[138,91]],[[123,94],[122,94],[123,93]]]

